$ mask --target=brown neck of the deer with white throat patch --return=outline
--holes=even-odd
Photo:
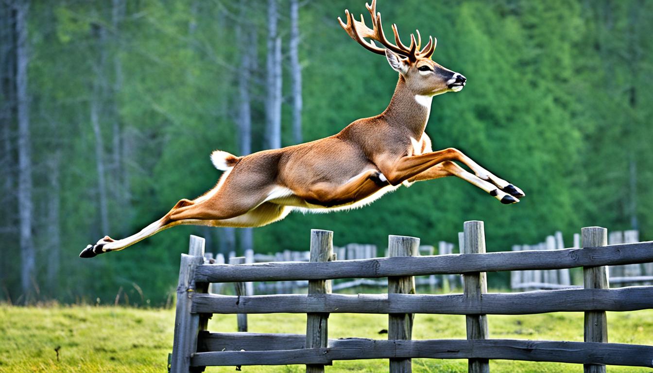
[[[390,104],[381,115],[390,125],[406,127],[415,138],[419,138],[426,128],[432,100],[432,96],[412,93],[404,76],[399,76]]]

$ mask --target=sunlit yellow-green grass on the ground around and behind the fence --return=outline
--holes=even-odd
[[[582,341],[582,313],[488,316],[491,338]],[[653,310],[609,312],[610,342],[653,345]],[[123,307],[0,306],[0,372],[165,372],[174,310]],[[236,317],[214,315],[211,331],[235,331]],[[332,314],[329,337],[385,339],[385,315]],[[306,315],[250,315],[249,330],[296,332]],[[464,316],[417,315],[413,339],[465,338]],[[59,361],[55,348],[59,347]],[[387,372],[386,360],[336,361],[327,372]],[[244,372],[304,372],[304,366],[243,366]],[[582,372],[581,365],[490,361],[492,372]],[[211,367],[207,372],[234,372]],[[609,372],[651,372],[609,366]],[[414,359],[413,372],[467,372],[465,360]]]

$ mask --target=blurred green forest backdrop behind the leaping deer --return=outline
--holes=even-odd
[[[212,150],[337,133],[382,112],[397,73],[338,24],[345,8],[366,13],[364,0],[0,0],[0,301],[165,304],[190,234],[239,254],[307,250],[311,228],[334,231],[336,245],[456,242],[473,219],[488,251],[556,230],[568,247],[591,225],[652,237],[652,1],[377,7],[387,35],[392,23],[433,35],[434,61],[468,79],[434,98],[434,150],[462,150],[521,187],[520,203],[444,178],[358,210],[174,227],[80,259],[214,186]]]

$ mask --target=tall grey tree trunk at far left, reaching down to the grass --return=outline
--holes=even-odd
[[[20,219],[20,282],[24,301],[31,300],[35,282],[36,255],[32,240],[32,164],[27,95],[27,1],[16,1],[16,104],[18,106],[18,215]]]

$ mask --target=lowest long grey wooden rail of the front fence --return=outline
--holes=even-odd
[[[653,346],[532,340],[334,340],[328,348],[197,353],[195,366],[323,364],[335,360],[505,359],[653,367]]]

